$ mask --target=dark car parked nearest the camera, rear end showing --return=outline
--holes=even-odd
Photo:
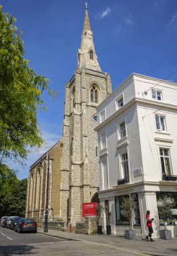
[[[35,220],[28,219],[28,218],[21,218],[16,224],[15,224],[15,231],[18,233],[21,232],[37,232],[37,223]]]

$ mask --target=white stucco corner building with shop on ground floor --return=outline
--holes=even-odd
[[[112,233],[127,229],[121,201],[132,197],[137,233],[147,232],[150,210],[157,234],[158,198],[174,197],[177,208],[177,84],[133,73],[98,106],[97,115],[99,198],[109,204]],[[169,228],[177,236],[173,213]]]

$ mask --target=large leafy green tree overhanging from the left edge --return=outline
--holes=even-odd
[[[23,56],[22,32],[0,5],[0,172],[5,159],[20,162],[28,146],[42,145],[36,113],[43,106],[44,91],[55,96],[48,79],[36,75]]]

